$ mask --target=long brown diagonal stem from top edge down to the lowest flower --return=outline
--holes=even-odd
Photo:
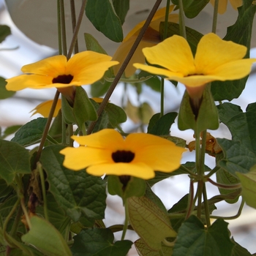
[[[105,95],[102,103],[99,105],[99,109],[97,110],[98,116],[100,116],[102,114],[102,111],[104,110],[105,106],[107,105],[108,100],[110,99],[110,96],[113,94],[113,91],[116,89],[116,85],[117,85],[118,81],[120,80],[121,75],[123,75],[124,70],[126,69],[130,59],[132,59],[133,53],[135,53],[135,50],[138,48],[138,45],[139,45],[141,39],[143,38],[143,35],[146,32],[146,29],[148,29],[148,26],[149,26],[152,18],[154,17],[154,14],[157,12],[157,8],[161,4],[161,2],[162,2],[162,0],[156,1],[156,3],[154,4],[154,7],[152,8],[151,12],[148,15],[148,18],[146,19],[146,22],[144,23],[142,29],[140,29],[140,33],[138,34],[138,37],[135,39],[135,42],[132,45],[131,50],[129,50],[127,57],[124,59],[123,64],[121,64],[121,67],[116,74],[116,78],[113,80],[113,83],[111,84],[110,88],[108,89],[108,92]],[[98,118],[98,120],[99,120],[99,118]],[[97,121],[91,122],[89,128],[87,129],[88,135],[91,134],[91,132],[93,131],[96,122]]]

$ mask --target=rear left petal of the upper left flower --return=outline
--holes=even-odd
[[[65,74],[66,65],[66,56],[58,55],[25,65],[21,68],[21,71],[37,75],[48,75],[52,78],[56,78],[58,75]]]

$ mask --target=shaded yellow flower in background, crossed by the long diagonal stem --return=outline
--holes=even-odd
[[[174,5],[170,6],[169,12],[173,11]],[[125,76],[129,78],[131,75],[133,75],[136,71],[135,67],[132,66],[135,62],[144,63],[145,58],[142,53],[142,49],[145,47],[151,47],[154,45],[157,45],[158,42],[160,42],[160,34],[159,34],[159,24],[161,21],[165,20],[165,9],[162,8],[158,10],[154,18],[151,20],[151,23],[144,34],[143,39],[141,39],[140,44],[138,45],[138,48],[135,50],[134,55],[132,56],[132,59],[129,61],[129,64],[127,65],[127,68],[125,69]],[[142,22],[138,23],[132,31],[127,34],[127,37],[124,38],[124,41],[119,45],[118,49],[116,50],[116,53],[113,56],[113,60],[119,61],[120,64],[113,67],[114,73],[118,72],[118,69],[120,69],[121,64],[123,64],[124,59],[127,57],[127,54],[129,53],[129,50],[132,48],[132,45],[135,42],[135,39],[138,37],[138,34],[140,33],[140,29],[143,27],[146,20],[143,20]],[[169,15],[169,21],[172,22],[178,22],[178,15],[173,14]]]

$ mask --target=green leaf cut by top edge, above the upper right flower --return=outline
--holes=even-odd
[[[210,0],[182,0],[184,13],[187,18],[195,18],[206,4],[208,4]],[[178,6],[178,0],[172,0],[173,4]]]

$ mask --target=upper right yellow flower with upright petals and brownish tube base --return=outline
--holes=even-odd
[[[244,45],[210,33],[200,39],[194,58],[187,40],[174,35],[154,47],[143,49],[147,61],[162,68],[139,63],[134,66],[183,83],[190,97],[200,98],[206,83],[236,80],[249,74],[256,59],[243,59],[246,50]]]

